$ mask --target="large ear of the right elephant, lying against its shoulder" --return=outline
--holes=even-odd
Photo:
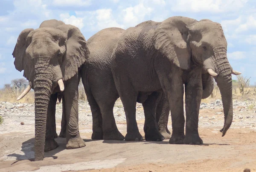
[[[190,67],[191,49],[187,43],[186,23],[192,21],[195,20],[186,17],[170,17],[157,26],[153,35],[155,49],[181,69]]]

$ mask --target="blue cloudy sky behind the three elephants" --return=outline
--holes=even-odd
[[[0,88],[23,77],[12,57],[18,35],[23,29],[38,28],[44,20],[75,25],[87,40],[104,28],[127,29],[145,20],[163,21],[172,16],[221,23],[231,66],[251,77],[250,84],[254,85],[255,7],[255,0],[0,0]]]

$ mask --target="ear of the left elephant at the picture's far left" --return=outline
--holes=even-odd
[[[33,65],[30,59],[26,56],[26,49],[29,46],[27,44],[27,36],[34,29],[24,29],[20,32],[20,35],[17,39],[17,43],[12,52],[12,56],[15,58],[14,65],[18,71],[24,70],[23,76],[26,77],[27,80],[31,80]]]

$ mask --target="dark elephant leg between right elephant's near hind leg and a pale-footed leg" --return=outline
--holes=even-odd
[[[153,92],[143,103],[145,114],[144,132],[147,141],[163,141],[164,137],[158,131],[156,120],[156,109],[162,93]]]

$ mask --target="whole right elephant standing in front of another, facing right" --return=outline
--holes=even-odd
[[[198,115],[203,97],[203,76],[209,80],[213,77],[221,92],[224,109],[222,137],[230,128],[233,120],[231,74],[241,73],[230,66],[227,40],[219,23],[182,16],[169,17],[162,22],[145,21],[122,34],[110,61],[127,120],[125,140],[142,140],[135,116],[137,96],[163,89],[172,118],[169,143],[202,144]],[[150,98],[157,99],[157,96]],[[155,107],[149,104],[147,110],[154,114]],[[149,128],[156,128],[155,123],[151,122]]]

